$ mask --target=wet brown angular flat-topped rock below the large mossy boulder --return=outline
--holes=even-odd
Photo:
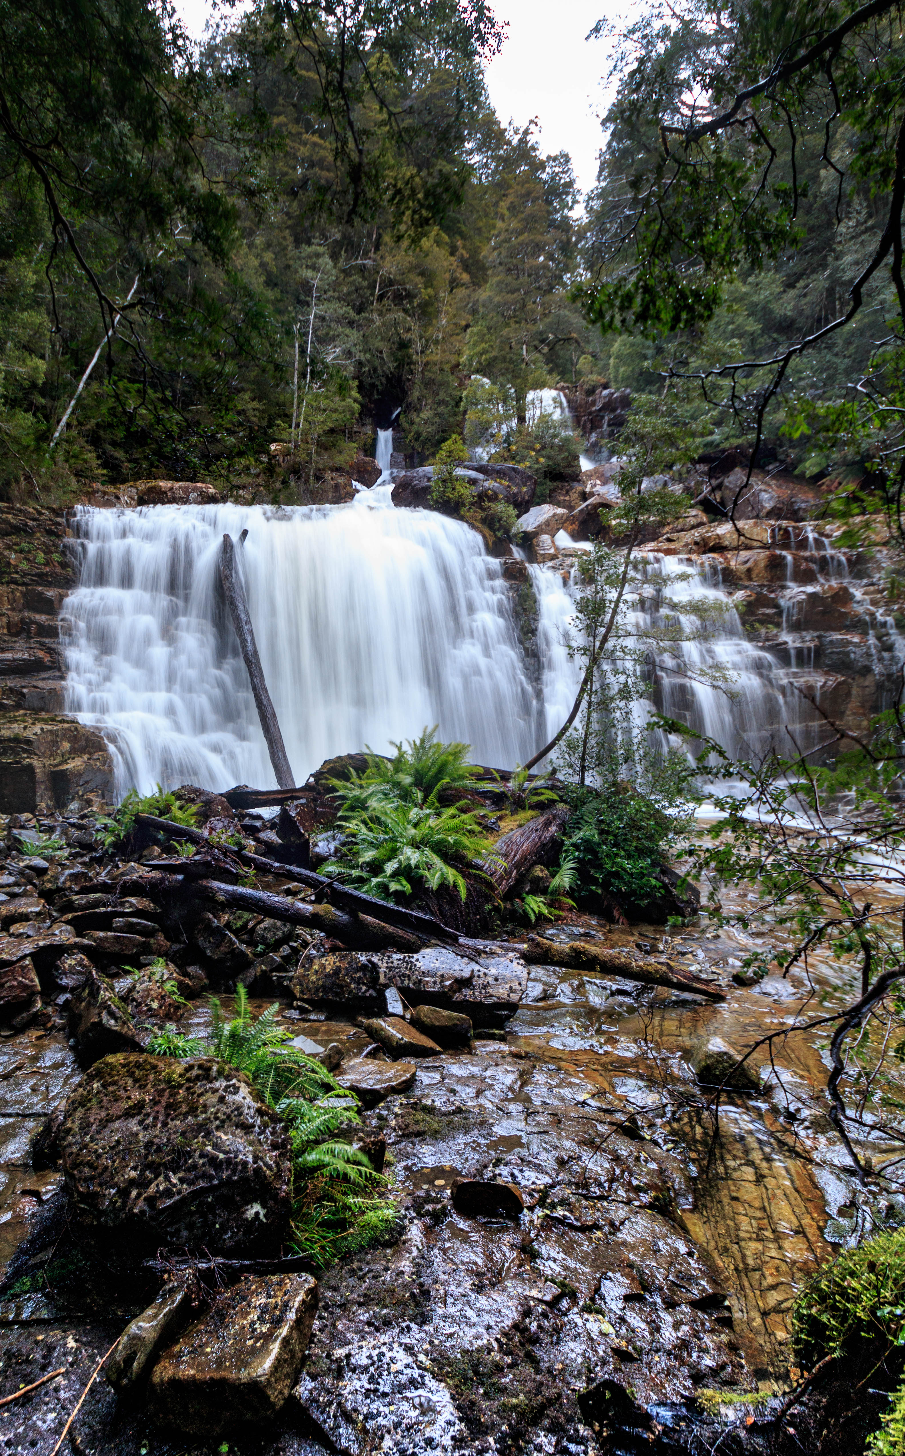
[[[298,1377],[316,1312],[308,1275],[240,1280],[156,1366],[151,1415],[205,1440],[272,1420]]]

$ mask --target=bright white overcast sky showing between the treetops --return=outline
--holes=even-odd
[[[633,10],[631,0],[492,0],[508,38],[487,67],[490,100],[503,124],[540,122],[543,151],[569,151],[578,183],[592,186],[601,144],[604,109],[601,77],[610,68],[611,42],[585,41],[601,17],[615,19]],[[211,13],[210,0],[176,0],[188,29],[201,35]]]

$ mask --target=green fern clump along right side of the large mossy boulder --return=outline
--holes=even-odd
[[[211,996],[211,1035],[201,1041],[167,1026],[148,1051],[163,1057],[212,1056],[244,1072],[268,1107],[284,1120],[292,1144],[292,1248],[317,1265],[365,1248],[390,1233],[393,1203],[381,1197],[386,1179],[365,1155],[336,1139],[340,1127],[359,1121],[358,1101],[313,1057],[287,1045],[276,1025],[279,1006],[260,1016],[249,1010],[243,986],[236,1015],[227,1021]]]

